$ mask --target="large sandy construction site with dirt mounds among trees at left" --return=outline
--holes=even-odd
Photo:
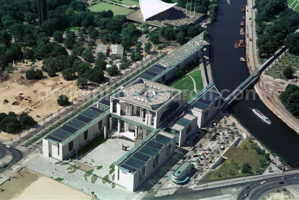
[[[43,72],[44,79],[26,80],[25,72],[28,69],[41,69],[42,61],[35,64],[33,67],[23,63],[14,65],[16,70],[9,74],[8,80],[0,82],[1,101],[4,99],[9,101],[7,104],[0,103],[1,112],[13,111],[17,114],[27,112],[36,121],[42,121],[43,117],[62,108],[57,104],[57,98],[61,94],[65,94],[69,101],[73,101],[74,98],[81,98],[88,92],[77,90],[76,81],[65,81],[61,73],[57,73],[56,77],[48,77],[47,73]],[[37,118],[37,114],[41,117]]]

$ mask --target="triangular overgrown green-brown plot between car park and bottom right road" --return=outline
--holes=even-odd
[[[259,174],[268,163],[262,150],[248,138],[238,148],[231,146],[223,156],[228,159],[217,170],[207,173],[201,182]],[[249,164],[250,173],[242,173],[244,163]]]

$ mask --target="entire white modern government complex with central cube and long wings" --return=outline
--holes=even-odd
[[[203,33],[150,66],[118,90],[45,136],[43,154],[67,160],[107,130],[133,141],[115,165],[115,184],[134,191],[175,151],[197,136],[218,111],[221,94],[208,84],[189,101],[182,90],[161,82],[202,59]]]

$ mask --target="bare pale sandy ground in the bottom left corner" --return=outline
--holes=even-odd
[[[23,168],[0,186],[1,199],[94,199],[59,181]]]

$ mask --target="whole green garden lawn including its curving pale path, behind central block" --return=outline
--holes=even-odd
[[[196,91],[194,90],[194,82],[191,77],[195,82]],[[190,73],[187,73],[185,76],[181,77],[175,83],[170,85],[170,87],[183,90],[184,95],[187,96],[187,101],[189,101],[193,96],[203,89],[202,75],[199,67],[195,67]]]

